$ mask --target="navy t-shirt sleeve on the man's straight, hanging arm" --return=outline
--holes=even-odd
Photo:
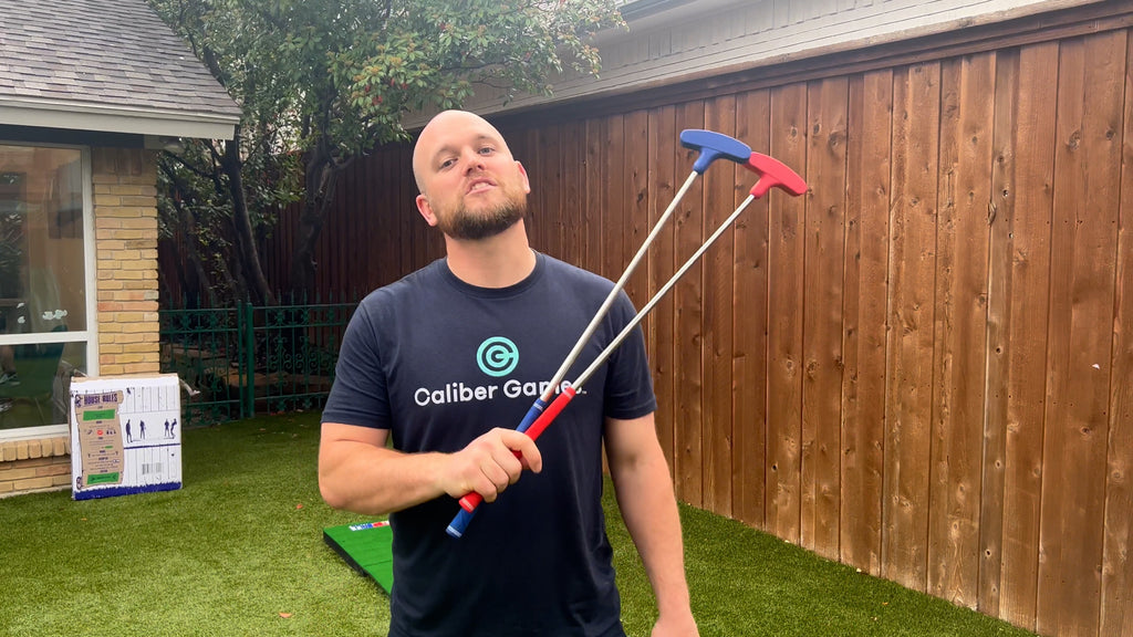
[[[624,291],[621,292],[610,313],[611,339],[630,323],[636,313],[629,296]],[[657,410],[657,398],[653,392],[653,375],[649,373],[649,359],[640,324],[634,326],[629,337],[614,350],[608,364],[610,375],[604,396],[604,410],[607,417],[630,421]]]

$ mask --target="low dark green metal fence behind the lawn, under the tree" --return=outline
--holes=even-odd
[[[357,303],[162,309],[161,371],[190,389],[187,426],[321,409]]]

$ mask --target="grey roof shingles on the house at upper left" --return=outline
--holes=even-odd
[[[144,0],[0,0],[0,95],[240,114]]]

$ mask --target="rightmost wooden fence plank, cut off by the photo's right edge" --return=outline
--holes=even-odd
[[[1133,43],[1126,68],[1133,68]],[[1121,218],[1117,223],[1117,278],[1114,354],[1106,462],[1105,546],[1101,561],[1104,637],[1133,635],[1133,82],[1125,75]]]

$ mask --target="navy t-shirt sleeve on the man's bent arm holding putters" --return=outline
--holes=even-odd
[[[370,306],[358,306],[342,337],[324,423],[390,428],[390,396]]]

